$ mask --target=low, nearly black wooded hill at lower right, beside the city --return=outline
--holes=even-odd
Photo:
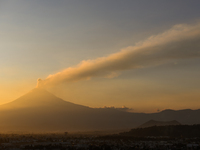
[[[145,137],[145,136],[168,136],[168,137],[200,137],[200,125],[171,125],[153,126],[147,128],[132,129],[121,136]]]

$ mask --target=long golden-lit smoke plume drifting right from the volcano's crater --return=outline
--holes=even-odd
[[[179,59],[200,57],[200,23],[175,25],[107,57],[84,60],[75,67],[39,80],[39,87],[89,80],[95,77],[113,78],[121,71],[160,65]]]

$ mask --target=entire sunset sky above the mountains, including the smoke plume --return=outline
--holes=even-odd
[[[95,108],[199,109],[199,6],[0,0],[0,104],[41,79],[56,96]]]

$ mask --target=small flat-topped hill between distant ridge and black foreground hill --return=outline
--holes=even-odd
[[[169,126],[169,125],[181,125],[178,121],[155,121],[149,120],[148,122],[140,125],[138,128],[147,128],[152,126]]]

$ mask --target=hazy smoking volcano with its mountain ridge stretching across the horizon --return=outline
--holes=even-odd
[[[145,114],[113,108],[90,108],[64,101],[36,88],[17,100],[0,106],[0,132],[131,129],[151,119],[198,124],[199,116],[200,110],[165,110]]]

